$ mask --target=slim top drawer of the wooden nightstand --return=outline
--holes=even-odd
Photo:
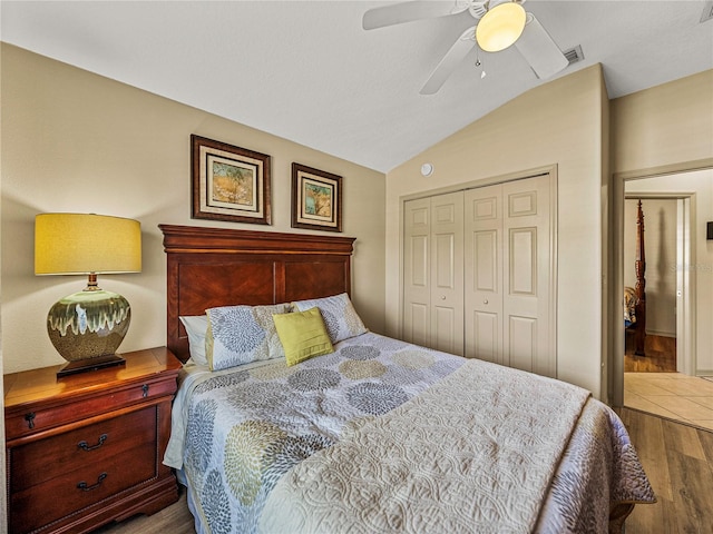
[[[150,398],[173,395],[175,390],[175,379],[158,379],[131,387],[117,388],[110,393],[97,394],[91,396],[90,402],[76,400],[42,409],[14,413],[6,417],[6,438],[10,441],[36,434],[106,413],[107,406],[114,408],[129,406]]]

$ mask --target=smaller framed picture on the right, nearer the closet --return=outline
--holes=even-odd
[[[292,227],[342,231],[342,177],[292,164]]]

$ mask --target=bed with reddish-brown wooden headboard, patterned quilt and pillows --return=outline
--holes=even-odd
[[[198,533],[622,532],[655,502],[588,392],[369,332],[350,298],[354,239],[160,228],[167,344],[186,362],[164,463]],[[331,350],[287,365],[273,326],[302,316]]]

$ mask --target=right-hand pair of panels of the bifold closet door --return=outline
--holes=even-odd
[[[549,176],[465,195],[468,357],[556,374]]]

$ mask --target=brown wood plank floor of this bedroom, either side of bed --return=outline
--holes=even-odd
[[[713,534],[713,433],[629,408],[618,411],[656,493],[626,521],[626,534]],[[180,500],[154,514],[107,525],[101,534],[195,534]]]

